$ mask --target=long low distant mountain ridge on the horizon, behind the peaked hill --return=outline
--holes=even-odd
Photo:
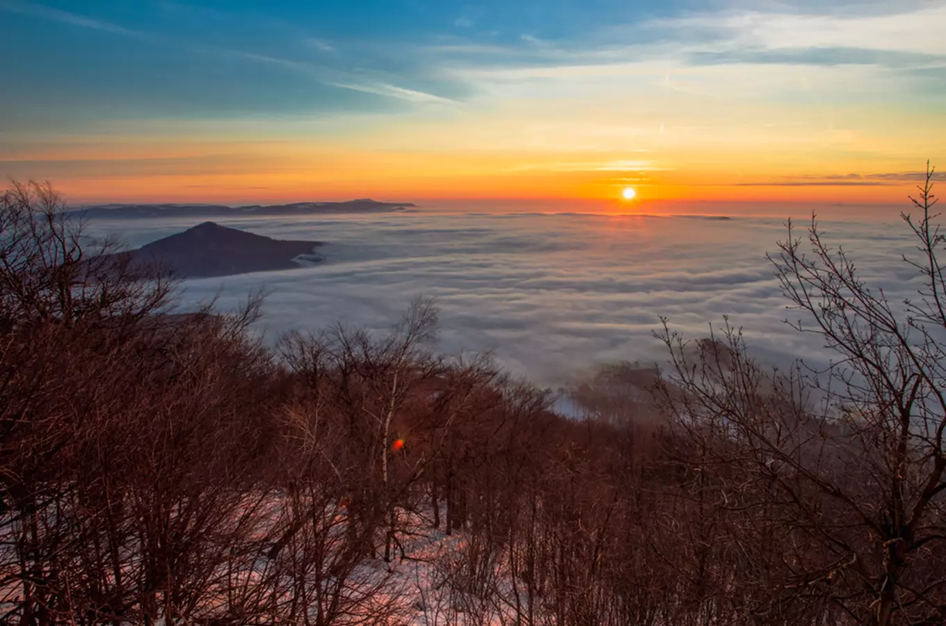
[[[240,216],[300,216],[334,213],[385,213],[404,211],[416,205],[412,202],[379,202],[371,199],[342,202],[292,202],[290,204],[95,204],[70,211],[81,217],[240,217]]]

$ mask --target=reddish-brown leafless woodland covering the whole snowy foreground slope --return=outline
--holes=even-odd
[[[932,174],[932,172],[931,172]],[[941,624],[946,283],[930,177],[917,303],[794,235],[774,259],[838,355],[764,370],[738,331],[552,410],[486,357],[390,332],[272,348],[260,299],[182,313],[43,185],[0,198],[0,621]],[[405,580],[424,535],[456,535]],[[418,570],[420,571],[420,570]]]

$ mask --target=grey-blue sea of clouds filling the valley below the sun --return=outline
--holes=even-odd
[[[137,247],[200,221],[126,218],[90,227]],[[780,218],[421,209],[219,223],[324,242],[324,263],[315,267],[184,282],[184,304],[219,296],[223,309],[265,287],[259,328],[272,339],[340,321],[381,330],[424,295],[441,309],[444,352],[491,351],[513,373],[552,387],[598,364],[662,360],[653,337],[660,316],[692,338],[728,316],[757,356],[780,366],[829,358],[814,336],[784,323],[800,314],[786,309],[765,258],[788,235]],[[891,301],[916,294],[917,272],[901,260],[913,242],[898,217],[820,225]],[[796,235],[805,226],[801,220]]]

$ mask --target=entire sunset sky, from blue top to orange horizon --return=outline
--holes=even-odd
[[[946,0],[0,0],[0,59],[0,176],[74,202],[885,204],[946,171]]]

